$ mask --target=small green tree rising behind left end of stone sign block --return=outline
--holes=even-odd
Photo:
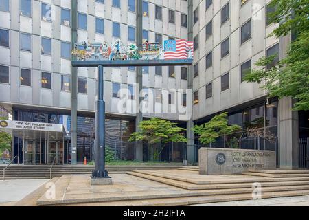
[[[216,142],[221,135],[231,135],[231,133],[241,129],[240,126],[229,125],[227,120],[227,112],[214,116],[209,122],[193,127],[194,133],[198,135],[198,140],[202,144],[210,144]]]

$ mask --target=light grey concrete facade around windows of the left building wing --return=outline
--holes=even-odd
[[[41,19],[41,2],[53,5],[52,22]],[[136,13],[128,11],[128,1],[120,1],[121,8],[112,6],[112,0],[100,3],[95,0],[78,0],[78,12],[87,14],[87,30],[78,29],[78,41],[107,41],[117,39],[112,36],[112,24],[120,24],[120,40],[126,45],[128,41],[128,26],[136,28]],[[155,5],[162,7],[162,21],[155,19]],[[0,65],[10,67],[10,83],[0,84],[3,96],[0,102],[10,104],[31,105],[71,109],[71,92],[61,91],[61,74],[71,75],[71,61],[61,58],[61,41],[71,43],[71,27],[61,25],[61,8],[71,10],[71,1],[33,0],[32,16],[20,15],[19,1],[10,1],[10,12],[0,11],[0,28],[10,30],[10,47],[0,47]],[[175,24],[168,22],[168,10],[175,11]],[[155,34],[161,34],[163,41],[169,37],[187,39],[187,28],[181,26],[181,14],[187,14],[187,1],[183,0],[152,0],[148,1],[148,17],[143,18],[143,28],[148,30],[149,41],[155,41]],[[104,34],[95,32],[95,18],[104,19]],[[72,17],[71,17],[72,18]],[[32,51],[25,52],[19,48],[19,34],[32,34]],[[52,39],[52,56],[41,54],[41,37]],[[20,68],[31,69],[32,85],[20,85]],[[187,80],[181,80],[181,67],[176,67],[176,77],[168,77],[168,67],[162,68],[162,76],[155,75],[155,67],[149,68],[148,74],[143,74],[143,87],[150,89],[187,89]],[[52,73],[52,89],[41,88],[41,72]],[[78,94],[78,111],[95,110],[97,87],[97,70],[95,68],[78,68],[78,76],[87,78],[87,94]],[[121,83],[122,88],[127,84],[136,83],[136,73],[128,71],[127,67],[105,69],[105,100],[107,113],[117,112],[119,98],[112,98],[112,84]],[[137,95],[137,94],[136,94]],[[162,104],[157,108],[162,108]],[[116,107],[115,107],[116,106]],[[115,108],[114,108],[115,107]],[[135,115],[124,113],[124,115]],[[151,116],[145,114],[144,116]],[[178,119],[175,114],[156,114],[160,118]]]

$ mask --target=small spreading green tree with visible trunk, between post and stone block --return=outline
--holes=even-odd
[[[187,142],[184,131],[176,123],[159,118],[151,118],[139,124],[139,132],[130,135],[129,142],[143,141],[148,143],[148,149],[152,152],[152,159],[159,160],[164,144],[168,142]],[[163,143],[163,146],[155,148],[155,145]]]

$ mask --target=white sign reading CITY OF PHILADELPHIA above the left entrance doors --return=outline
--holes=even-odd
[[[10,120],[0,120],[0,129],[63,132],[62,124],[47,124],[41,122],[22,122]]]

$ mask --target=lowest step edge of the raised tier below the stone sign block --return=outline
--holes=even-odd
[[[186,190],[211,190],[211,189],[230,189],[230,188],[252,188],[251,183],[238,183],[238,184],[191,184],[183,181],[178,181],[174,179],[167,179],[163,177],[157,177],[151,174],[144,174],[138,172],[126,172],[129,175],[134,175],[136,177],[141,177],[144,179],[149,179],[152,181],[157,181],[162,184],[168,184],[170,186],[176,186],[179,188],[184,188]],[[275,187],[275,186],[309,186],[309,179],[307,181],[270,181],[260,183],[262,187]]]

